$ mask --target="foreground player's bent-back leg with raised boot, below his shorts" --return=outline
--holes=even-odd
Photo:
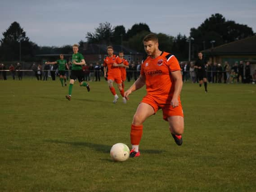
[[[184,118],[182,116],[170,116],[168,117],[169,129],[174,141],[177,145],[182,145],[182,134],[184,131]]]

